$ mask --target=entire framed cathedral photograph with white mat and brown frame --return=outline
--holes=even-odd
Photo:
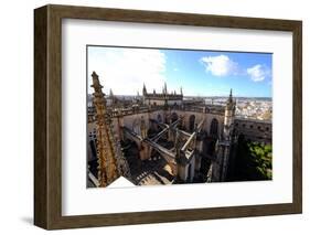
[[[300,21],[34,10],[34,224],[302,211]]]

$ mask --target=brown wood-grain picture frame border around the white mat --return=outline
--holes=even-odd
[[[62,215],[62,19],[292,32],[293,150],[292,203],[212,209]],[[34,224],[72,228],[240,216],[302,211],[302,22],[139,10],[45,6],[34,10]]]

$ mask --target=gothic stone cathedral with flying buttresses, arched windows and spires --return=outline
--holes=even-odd
[[[244,120],[236,119],[231,90],[225,106],[180,93],[148,93],[120,98],[101,92],[93,72],[94,93],[88,96],[87,185],[108,186],[119,177],[133,185],[209,183],[227,180]],[[104,81],[104,79],[101,79]],[[243,122],[244,121],[244,122]],[[238,125],[236,125],[238,124]],[[271,128],[257,137],[271,139]],[[264,126],[265,125],[265,126]],[[260,127],[259,126],[259,127]],[[244,128],[244,129],[243,129]],[[270,129],[267,129],[270,128]]]

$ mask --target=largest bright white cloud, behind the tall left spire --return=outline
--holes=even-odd
[[[88,89],[93,71],[105,93],[111,88],[116,95],[136,95],[141,94],[143,83],[148,90],[162,87],[165,56],[159,50],[94,46],[88,47]]]

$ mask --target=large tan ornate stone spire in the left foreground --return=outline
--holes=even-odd
[[[96,108],[98,181],[100,186],[107,186],[118,178],[116,163],[116,146],[110,127],[110,118],[106,109],[105,94],[103,93],[98,75],[93,72],[94,105]]]

